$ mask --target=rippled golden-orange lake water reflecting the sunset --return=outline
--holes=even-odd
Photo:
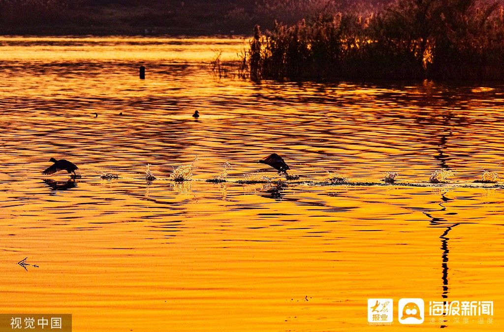
[[[75,331],[399,331],[396,313],[367,325],[367,298],[419,297],[494,301],[494,315],[417,330],[501,331],[504,192],[460,184],[504,173],[504,86],[215,79],[215,50],[234,60],[243,45],[0,38],[2,312],[72,313]],[[226,160],[228,180],[278,180],[257,163],[272,152],[301,180],[455,175],[203,181]],[[42,176],[50,157],[82,179]],[[194,181],[166,180],[196,157]]]

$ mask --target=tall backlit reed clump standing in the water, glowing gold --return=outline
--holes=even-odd
[[[376,13],[321,13],[255,27],[251,80],[504,77],[504,9],[476,0],[400,0]]]

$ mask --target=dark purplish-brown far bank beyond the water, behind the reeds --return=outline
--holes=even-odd
[[[321,11],[364,10],[380,0],[0,0],[4,34],[250,34],[279,19],[293,24]]]

